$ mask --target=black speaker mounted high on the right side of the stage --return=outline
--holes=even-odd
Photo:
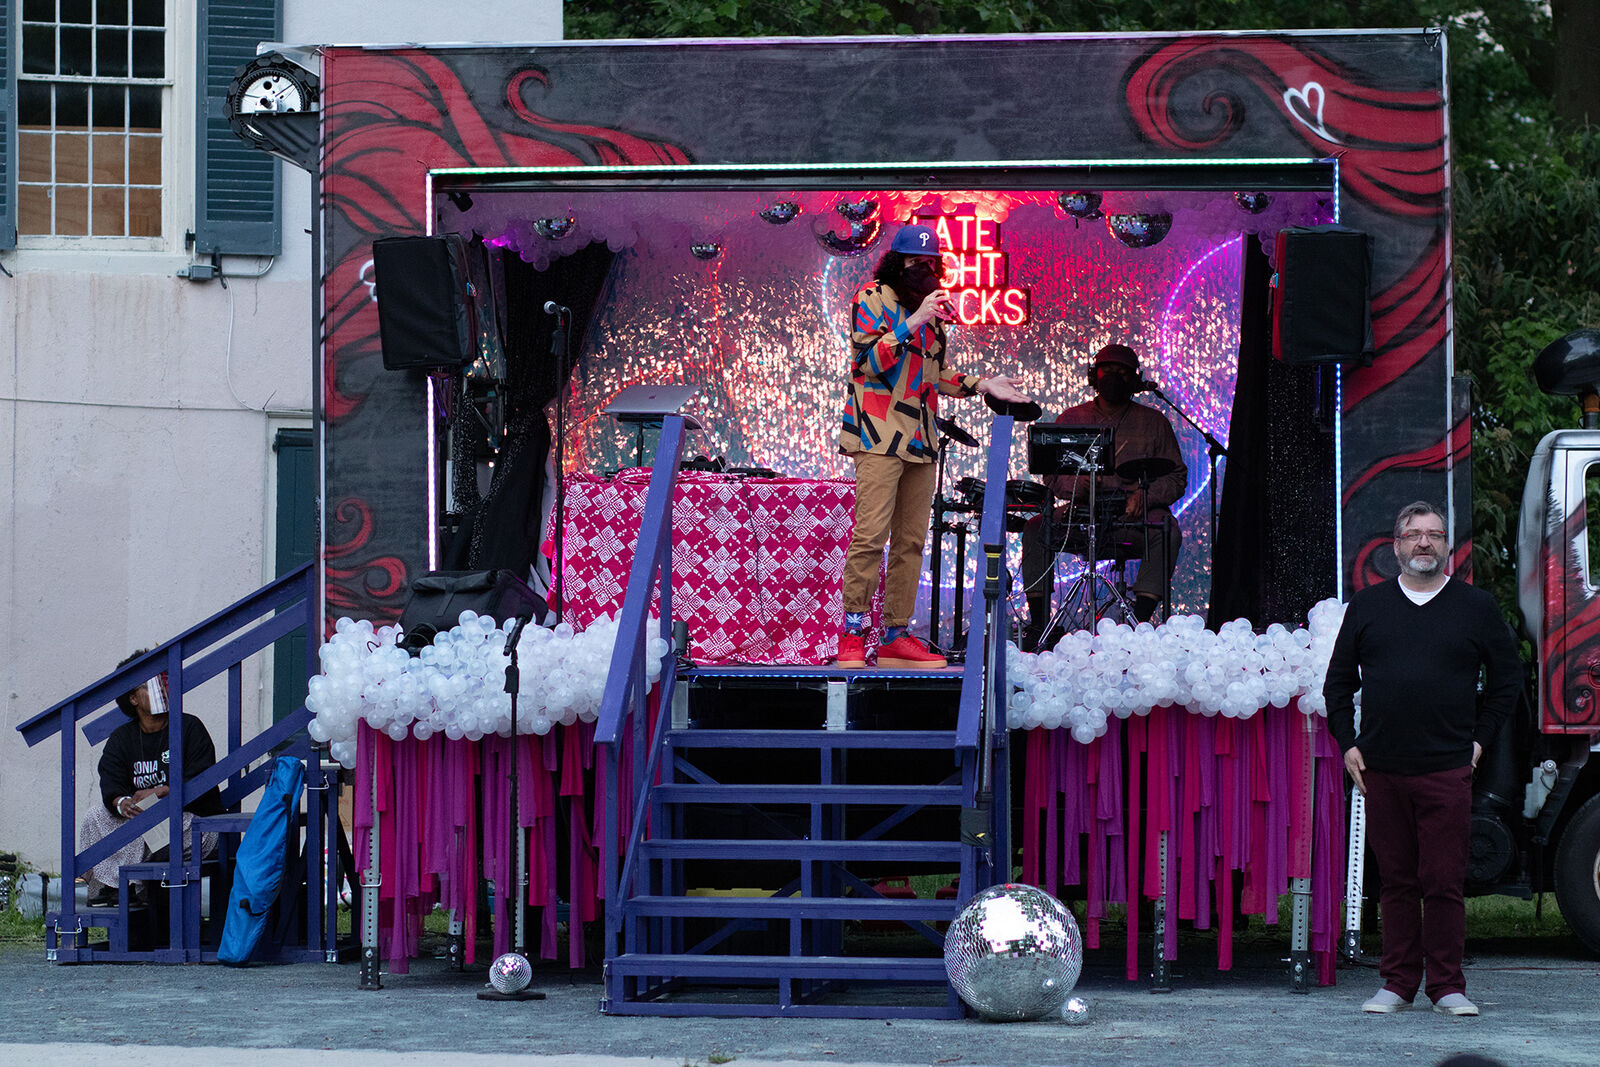
[[[1341,226],[1278,230],[1274,261],[1272,355],[1371,363],[1371,238]]]

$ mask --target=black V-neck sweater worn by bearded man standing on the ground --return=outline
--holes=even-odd
[[[1485,669],[1482,707],[1478,667]],[[1374,771],[1429,774],[1472,763],[1472,742],[1488,747],[1517,702],[1518,685],[1517,638],[1490,593],[1450,579],[1416,605],[1395,579],[1350,597],[1322,694],[1341,750],[1360,747]]]

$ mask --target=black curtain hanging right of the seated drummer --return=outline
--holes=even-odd
[[[1206,625],[1304,622],[1334,590],[1331,366],[1272,358],[1272,262],[1245,237],[1238,379]]]

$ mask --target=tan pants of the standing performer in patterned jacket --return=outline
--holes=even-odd
[[[934,466],[899,456],[853,453],[856,461],[856,531],[845,555],[845,611],[870,611],[883,545],[890,568],[883,585],[883,625],[910,622],[922,582],[922,547],[928,541]]]

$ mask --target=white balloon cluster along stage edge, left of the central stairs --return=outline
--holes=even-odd
[[[398,627],[339,619],[322,646],[322,673],[310,680],[306,707],[317,718],[307,726],[314,741],[331,742],[330,753],[355,766],[355,728],[365,721],[395,741],[408,734],[426,741],[437,733],[451,741],[485,734],[510,736],[510,694],[506,693],[504,625],[472,611],[461,624],[434,637],[413,657],[397,641]],[[597,619],[586,630],[566,622],[555,629],[530,625],[517,641],[517,733],[547,734],[557,723],[592,723],[600,713],[618,624]],[[648,632],[659,632],[651,619]],[[661,677],[669,645],[646,641],[645,677]]]

